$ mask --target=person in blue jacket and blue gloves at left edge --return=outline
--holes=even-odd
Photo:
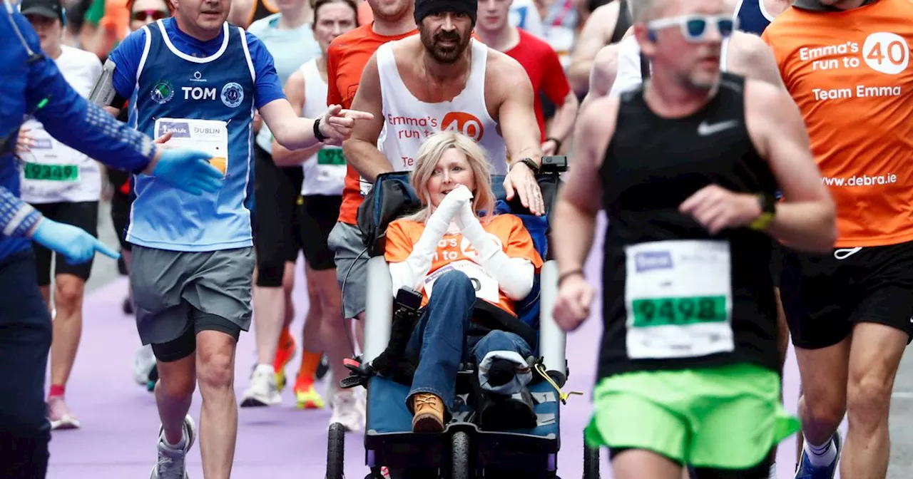
[[[79,96],[8,0],[0,6],[0,65],[0,477],[35,479],[47,474],[44,381],[51,318],[38,290],[30,240],[73,263],[88,261],[96,251],[117,254],[19,200],[15,149],[23,118],[35,117],[58,141],[92,158],[190,193],[215,192],[222,180],[205,152],[158,149]]]

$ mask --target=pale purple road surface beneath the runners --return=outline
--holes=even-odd
[[[601,226],[604,222],[600,222]],[[587,272],[598,283],[602,245],[594,245]],[[299,266],[301,263],[299,262]],[[301,272],[295,287],[296,323],[307,311],[307,295]],[[121,277],[86,298],[84,331],[76,366],[67,386],[70,409],[79,417],[82,429],[54,432],[51,441],[49,479],[145,479],[156,460],[158,415],[152,394],[132,380],[133,354],[140,346],[132,317],[121,313],[126,281]],[[597,295],[598,297],[598,295]],[[593,311],[601,311],[595,304]],[[256,324],[256,321],[255,321]],[[582,477],[582,429],[589,420],[590,390],[593,383],[602,321],[591,318],[568,337],[571,378],[565,390],[584,391],[572,396],[561,411],[561,453],[559,475],[563,479]],[[247,387],[254,360],[253,332],[242,335],[236,361],[236,394]],[[299,356],[289,365],[294,375]],[[784,398],[795,411],[798,371],[791,357],[786,368]],[[323,390],[323,386],[319,386]],[[327,398],[329,400],[329,398]],[[236,479],[321,479],[326,467],[326,430],[330,411],[297,411],[290,388],[282,405],[273,408],[241,409],[232,477]],[[201,399],[194,395],[191,413],[199,424]],[[792,477],[794,442],[782,443],[778,454],[778,477]],[[611,471],[603,452],[603,477]],[[199,443],[189,458],[193,479],[203,479]],[[362,434],[352,433],[346,442],[346,477],[361,479],[364,466]]]

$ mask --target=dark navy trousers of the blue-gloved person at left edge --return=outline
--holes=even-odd
[[[0,260],[0,291],[0,477],[43,478],[51,432],[44,397],[51,316],[30,250]]]

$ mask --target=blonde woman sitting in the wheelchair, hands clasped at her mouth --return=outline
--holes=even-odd
[[[494,214],[489,161],[467,136],[431,135],[418,151],[412,185],[422,209],[386,232],[393,293],[423,291],[421,319],[406,348],[415,376],[406,398],[414,432],[442,432],[461,361],[477,364],[483,390],[510,396],[532,374],[535,345],[492,324],[516,321],[542,259],[519,217]],[[507,315],[507,316],[505,316]]]

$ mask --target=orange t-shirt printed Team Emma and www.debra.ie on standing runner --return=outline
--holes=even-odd
[[[837,204],[836,247],[913,241],[913,2],[792,7],[764,30]]]

